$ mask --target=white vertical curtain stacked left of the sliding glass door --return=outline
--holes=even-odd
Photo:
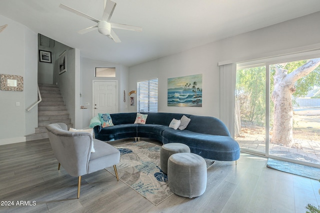
[[[219,118],[234,138],[234,104],[235,104],[236,64],[219,65]]]

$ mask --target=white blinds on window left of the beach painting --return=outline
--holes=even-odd
[[[136,83],[137,111],[158,111],[158,79],[140,81]]]

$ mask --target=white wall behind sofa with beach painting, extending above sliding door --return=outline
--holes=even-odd
[[[129,90],[158,78],[158,111],[219,117],[219,61],[240,62],[320,48],[320,12],[232,36],[181,53],[129,67]],[[167,78],[202,73],[202,107],[168,107]],[[129,107],[135,112],[136,107]]]

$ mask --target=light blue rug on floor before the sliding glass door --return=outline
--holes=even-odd
[[[268,159],[266,167],[314,180],[320,179],[320,169],[315,167],[279,161],[271,158]]]

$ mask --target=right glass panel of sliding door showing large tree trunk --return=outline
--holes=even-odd
[[[320,59],[268,65],[269,156],[320,165]]]

